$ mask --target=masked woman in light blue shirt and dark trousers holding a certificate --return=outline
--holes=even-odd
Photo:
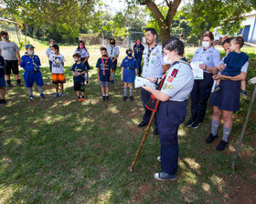
[[[213,85],[212,75],[218,72],[220,62],[219,50],[213,47],[214,36],[211,32],[203,35],[202,47],[197,49],[192,62],[202,61],[199,67],[204,70],[204,79],[196,79],[191,92],[191,117],[186,126],[198,128],[202,123],[207,109],[208,98]]]

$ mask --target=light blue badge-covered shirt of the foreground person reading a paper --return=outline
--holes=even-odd
[[[170,96],[170,101],[182,102],[187,100],[193,86],[194,76],[191,67],[177,61],[167,70],[161,92]]]

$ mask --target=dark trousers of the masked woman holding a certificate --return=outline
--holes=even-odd
[[[194,82],[191,91],[191,117],[195,122],[203,122],[212,85],[212,74],[208,73],[204,73],[204,79],[195,80]]]

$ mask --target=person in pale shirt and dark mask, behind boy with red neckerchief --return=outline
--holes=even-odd
[[[115,40],[113,38],[110,39],[110,46],[108,46],[107,52],[108,56],[112,60],[112,84],[114,84],[114,76],[115,76],[115,70],[117,66],[117,58],[120,54],[118,46],[115,46]]]

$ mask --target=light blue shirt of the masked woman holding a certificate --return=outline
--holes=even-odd
[[[204,47],[197,49],[195,55],[192,58],[192,62],[202,61],[205,66],[219,66],[220,53],[219,50],[213,46],[209,47],[207,50]],[[210,73],[206,70],[204,72]]]

